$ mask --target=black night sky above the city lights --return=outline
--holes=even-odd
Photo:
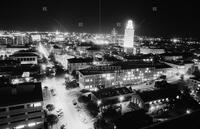
[[[98,32],[98,6],[98,0],[2,0],[0,30]],[[102,0],[101,31],[110,33],[117,22],[123,30],[131,18],[138,35],[200,38],[199,7],[193,0]]]

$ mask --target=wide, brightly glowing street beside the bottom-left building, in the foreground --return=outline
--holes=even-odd
[[[53,113],[56,113],[56,110],[62,109],[64,114],[59,119],[58,124],[54,125],[53,129],[60,129],[62,124],[66,125],[67,129],[92,129],[93,123],[84,123],[83,118],[80,117],[87,117],[87,115],[84,112],[77,111],[72,103],[75,97],[70,95],[71,91],[65,89],[64,82],[64,76],[46,78],[42,81],[43,87],[48,86],[48,91],[50,91],[50,89],[55,89],[56,94],[52,96],[47,93],[47,98],[44,98],[44,106],[53,104],[55,105],[55,111],[53,111]]]

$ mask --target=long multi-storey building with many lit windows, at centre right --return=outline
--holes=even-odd
[[[118,62],[113,65],[89,67],[79,70],[80,87],[98,90],[108,87],[134,86],[157,79],[165,74],[169,65],[147,62]]]

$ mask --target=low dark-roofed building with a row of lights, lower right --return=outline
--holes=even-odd
[[[153,91],[140,92],[138,96],[133,99],[133,102],[135,104],[139,102],[142,105],[141,107],[151,114],[159,110],[167,110],[171,106],[170,102],[181,99],[182,95],[177,86],[169,86]]]

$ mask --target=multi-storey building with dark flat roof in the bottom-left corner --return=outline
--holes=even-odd
[[[0,87],[1,129],[43,129],[44,112],[41,83]]]

